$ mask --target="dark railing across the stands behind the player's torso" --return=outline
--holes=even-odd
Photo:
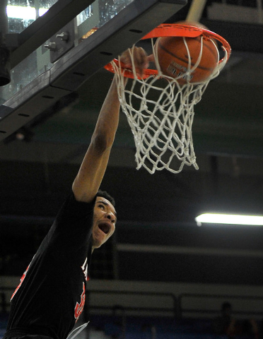
[[[13,287],[0,287],[0,312],[8,313],[9,296]],[[89,314],[125,314],[141,316],[161,315],[175,318],[213,318],[223,302],[233,304],[233,315],[263,318],[263,297],[243,295],[214,295],[170,292],[144,292],[128,290],[88,290],[86,292],[86,316]]]

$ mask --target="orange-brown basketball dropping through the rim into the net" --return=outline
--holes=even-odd
[[[187,23],[183,23],[186,25]],[[188,23],[189,24],[189,23]],[[205,28],[201,24],[191,23]],[[187,44],[187,47],[185,45]],[[155,44],[156,52],[158,53],[158,61],[160,70],[165,76],[178,78],[180,84],[187,83],[202,83],[206,81],[218,63],[218,49],[212,40],[203,39],[203,51],[201,60],[197,69],[189,73],[187,79],[187,71],[189,67],[192,69],[196,64],[201,52],[201,36],[199,37],[159,37]],[[189,54],[187,52],[189,49]]]

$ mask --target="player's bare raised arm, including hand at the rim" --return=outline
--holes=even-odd
[[[148,66],[144,49],[134,49],[134,60],[139,73],[142,73]],[[122,54],[121,61],[127,66],[131,64],[129,51]],[[100,110],[87,153],[72,185],[77,201],[92,201],[100,188],[119,123],[119,106],[117,82],[114,78]]]

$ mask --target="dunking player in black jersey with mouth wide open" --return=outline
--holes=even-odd
[[[134,50],[138,73],[148,67],[144,49]],[[131,66],[129,51],[122,62]],[[85,304],[90,257],[115,232],[113,199],[98,191],[119,121],[115,78],[100,110],[71,194],[11,297],[4,339],[65,339]]]

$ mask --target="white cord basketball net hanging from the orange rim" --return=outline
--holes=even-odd
[[[187,47],[187,40],[183,39]],[[202,41],[201,39],[197,63],[191,66],[189,62],[187,73],[182,76],[191,76],[192,71],[197,68],[201,60]],[[112,67],[117,74],[119,101],[134,135],[136,168],[145,167],[151,174],[162,169],[179,173],[184,165],[193,165],[198,169],[192,140],[194,105],[201,100],[209,81],[216,78],[225,66],[226,49],[223,47],[225,57],[223,61],[218,62],[209,79],[203,83],[185,83],[185,85],[178,83],[179,78],[163,75],[153,39],[152,49],[158,75],[151,75],[146,79],[138,78],[131,48],[134,79],[126,88],[123,69],[112,61]],[[187,51],[189,54],[188,47]],[[191,60],[190,56],[188,59]]]

